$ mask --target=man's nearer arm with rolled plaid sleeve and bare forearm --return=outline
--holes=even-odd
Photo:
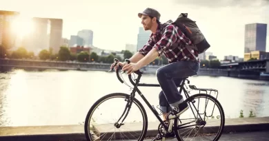
[[[163,32],[161,40],[159,40],[148,54],[137,62],[139,68],[148,65],[154,61],[157,56],[160,56],[164,51],[169,50],[170,46],[177,41],[177,31],[175,26],[168,25]]]

